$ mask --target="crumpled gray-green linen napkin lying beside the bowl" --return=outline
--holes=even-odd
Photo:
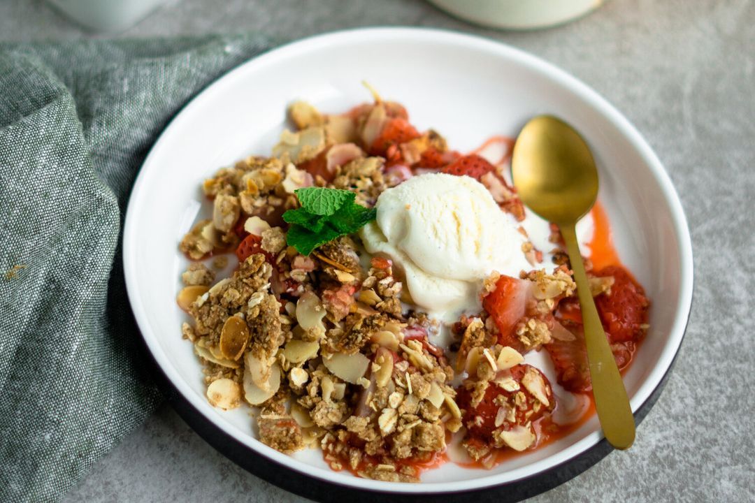
[[[161,397],[120,232],[173,115],[259,35],[0,44],[0,501],[55,501]]]

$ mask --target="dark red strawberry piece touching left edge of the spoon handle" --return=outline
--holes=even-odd
[[[593,384],[590,382],[590,367],[587,363],[582,326],[570,321],[562,321],[562,326],[574,336],[574,339],[563,340],[554,337],[543,346],[553,360],[556,380],[559,385],[574,393],[591,391]]]

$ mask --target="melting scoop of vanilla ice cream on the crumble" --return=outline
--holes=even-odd
[[[518,276],[529,263],[513,218],[469,176],[413,176],[377,198],[377,220],[362,228],[369,253],[391,257],[414,304],[453,318],[479,309],[492,271]]]

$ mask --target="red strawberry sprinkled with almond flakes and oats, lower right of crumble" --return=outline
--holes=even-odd
[[[543,379],[544,393],[548,400],[547,406],[544,403],[541,403],[538,398],[522,385],[522,377],[524,377],[528,369],[532,369],[532,371],[538,373]],[[472,406],[472,391],[465,385],[462,385],[461,388],[459,388],[458,394],[456,395],[456,403],[458,403],[460,409],[464,410],[462,422],[467,427],[470,437],[489,441],[492,440],[493,432],[499,428],[509,430],[516,425],[526,425],[528,422],[535,422],[545,413],[553,410],[553,407],[556,404],[555,400],[553,400],[553,390],[550,387],[550,382],[548,382],[547,377],[544,376],[540,370],[527,363],[522,363],[521,365],[516,365],[515,367],[510,368],[510,370],[500,373],[499,376],[506,373],[510,373],[512,379],[519,385],[519,389],[506,391],[504,388],[501,388],[501,386],[495,384],[495,382],[490,382],[485,389],[485,395],[476,406]],[[495,420],[498,416],[498,410],[501,409],[501,405],[503,403],[511,404],[513,396],[519,392],[524,395],[525,400],[520,402],[519,405],[513,407],[514,421],[510,421],[510,416],[506,415],[503,418],[503,422],[496,426]],[[538,405],[536,406],[536,404]]]

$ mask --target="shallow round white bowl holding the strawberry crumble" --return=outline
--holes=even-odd
[[[360,83],[403,103],[419,128],[434,127],[464,151],[494,133],[515,136],[533,115],[559,115],[590,143],[600,195],[621,259],[653,301],[651,329],[624,376],[634,411],[670,369],[692,299],[692,249],[679,198],[642,136],[589,87],[504,44],[430,29],[357,29],[307,38],[263,54],[199,94],[162,133],[128,204],[124,263],[128,296],[146,345],[182,400],[207,425],[249,452],[317,480],[393,493],[481,489],[544,473],[602,438],[596,418],[555,443],[490,471],[448,463],[418,484],[334,472],[317,450],[288,456],[260,443],[244,408],[214,409],[177,308],[186,260],[177,244],[208,204],[202,179],[252,153],[266,154],[285,106],[306,99],[327,112],[368,100]],[[639,434],[642,434],[640,431]],[[236,459],[238,459],[238,455]]]

